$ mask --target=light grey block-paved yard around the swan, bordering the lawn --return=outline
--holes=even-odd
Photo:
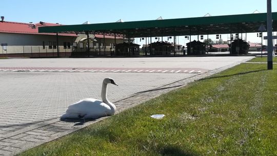
[[[61,121],[59,118],[71,103],[85,97],[101,99],[100,92],[104,77],[112,77],[119,85],[109,85],[108,88],[108,99],[116,105],[117,113],[119,113],[170,90],[245,62],[251,57],[236,58],[238,58],[237,61],[229,61],[228,64],[226,64],[226,60],[217,61],[214,67],[195,65],[195,68],[204,69],[199,73],[2,71],[0,74],[0,86],[2,86],[0,89],[0,111],[2,112],[0,114],[0,155],[22,152],[105,119],[83,123],[81,121]],[[18,62],[25,60],[18,60]],[[92,61],[92,59],[88,60]],[[16,63],[14,60],[10,61]],[[38,60],[28,59],[26,61]],[[47,62],[47,60],[45,61]],[[175,60],[172,60],[172,64],[168,62],[166,66],[161,65],[159,69],[176,68],[174,62]],[[206,61],[199,62],[205,64]],[[145,63],[151,64],[152,62],[149,60]],[[27,68],[27,64],[22,64],[22,66]],[[138,68],[136,64],[130,65],[129,68]],[[18,67],[18,64],[9,64],[9,68],[16,66]],[[35,67],[34,64],[32,66]],[[36,66],[38,68],[39,64]],[[54,68],[51,67],[51,63],[44,66]],[[58,68],[62,68],[62,65],[58,66],[61,66]],[[108,68],[108,65],[102,66]],[[118,65],[114,64],[113,67],[122,68],[120,66],[122,63],[118,62]],[[7,67],[7,64],[0,63],[1,67]],[[82,66],[80,64],[78,66],[76,63],[71,64],[71,67],[81,68]],[[150,66],[149,70],[153,67]]]

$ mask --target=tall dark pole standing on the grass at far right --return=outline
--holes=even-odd
[[[272,63],[272,12],[271,0],[267,0],[267,69],[273,69]]]

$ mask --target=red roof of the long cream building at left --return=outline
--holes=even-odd
[[[61,24],[44,23],[37,24],[18,23],[18,22],[0,22],[0,32],[4,33],[22,33],[22,34],[42,34],[42,35],[56,35],[56,33],[38,33],[38,27],[45,26],[61,26]],[[58,33],[61,36],[77,36],[70,33]]]

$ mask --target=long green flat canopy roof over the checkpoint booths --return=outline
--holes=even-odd
[[[259,32],[258,29],[261,24],[266,26],[266,19],[266,13],[253,13],[123,23],[39,27],[38,32],[88,32],[106,35],[122,34],[126,37],[244,33]],[[272,19],[273,31],[277,31],[277,12],[272,13]]]

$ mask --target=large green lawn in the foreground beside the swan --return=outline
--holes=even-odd
[[[277,65],[266,68],[241,64],[20,155],[277,155]]]

